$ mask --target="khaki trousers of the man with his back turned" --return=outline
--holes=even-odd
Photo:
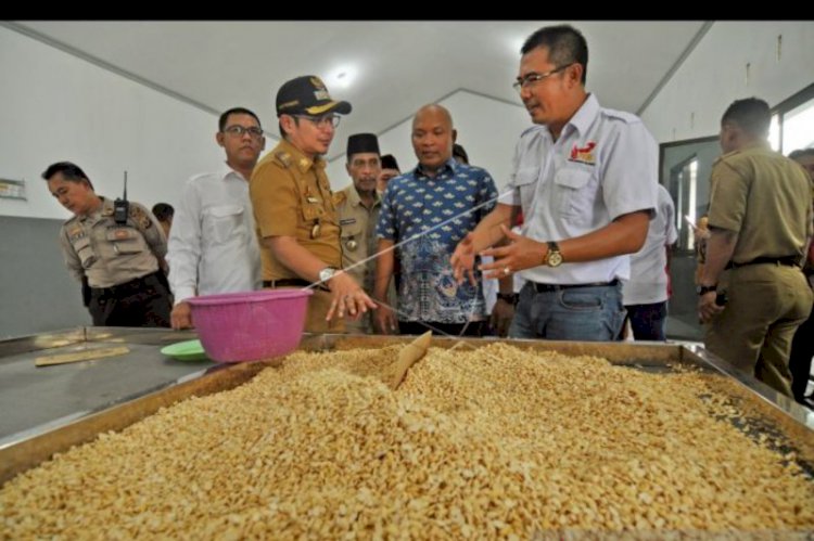
[[[749,265],[727,271],[722,287],[728,302],[707,330],[707,349],[791,396],[791,339],[809,317],[814,298],[802,271],[773,263]]]

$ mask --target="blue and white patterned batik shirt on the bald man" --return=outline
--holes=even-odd
[[[377,236],[397,243],[402,262],[397,319],[466,323],[486,313],[476,286],[458,285],[449,258],[493,208],[495,181],[485,169],[449,159],[434,178],[419,165],[392,179],[382,195]]]

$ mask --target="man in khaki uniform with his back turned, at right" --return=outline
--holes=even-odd
[[[770,119],[755,98],[734,102],[721,119],[698,311],[710,351],[791,396],[791,338],[812,306],[801,271],[811,189],[797,164],[768,147]]]

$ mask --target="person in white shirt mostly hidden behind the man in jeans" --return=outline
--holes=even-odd
[[[669,250],[678,233],[670,192],[659,184],[658,195],[659,206],[645,246],[631,256],[631,280],[622,288],[633,337],[637,340],[666,339]]]

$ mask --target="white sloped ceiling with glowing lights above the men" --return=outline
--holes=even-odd
[[[213,114],[236,105],[276,134],[285,80],[322,77],[347,100],[348,133],[382,133],[459,90],[520,104],[520,46],[554,22],[17,22],[20,31]],[[709,28],[704,22],[576,22],[590,51],[588,90],[638,112]],[[343,88],[335,78],[346,72]]]

